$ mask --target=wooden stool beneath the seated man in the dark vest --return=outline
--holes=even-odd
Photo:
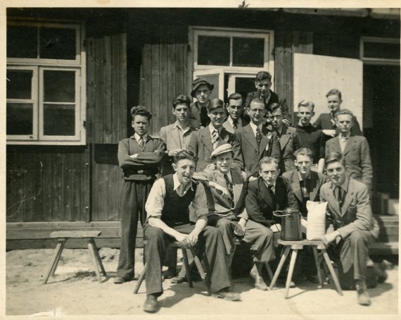
[[[144,241],[144,248],[146,245],[146,240]],[[174,247],[179,247],[182,249],[182,259],[184,260],[184,266],[185,266],[185,271],[186,271],[186,280],[188,281],[189,288],[193,288],[193,283],[192,283],[192,278],[191,278],[191,270],[189,269],[189,261],[188,261],[188,253],[186,250],[191,250],[191,254],[193,256],[193,262],[195,262],[196,268],[198,269],[200,278],[202,278],[202,281],[206,285],[206,289],[208,290],[208,294],[211,295],[210,291],[210,284],[208,281],[208,273],[205,270],[208,270],[207,267],[203,267],[202,263],[200,262],[200,259],[196,255],[195,249],[193,247],[190,248],[185,248],[182,246],[181,242],[172,242],[170,243],[170,246]],[[136,282],[135,289],[134,289],[134,294],[138,293],[139,288],[141,287],[142,281],[144,281],[145,278],[145,273],[146,273],[146,262],[144,265],[144,269],[141,271],[141,275],[138,278],[138,281]]]

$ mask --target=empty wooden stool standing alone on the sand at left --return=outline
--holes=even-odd
[[[101,231],[99,230],[53,231],[50,234],[50,238],[57,238],[58,244],[56,247],[56,252],[54,252],[53,258],[51,259],[51,265],[49,271],[47,271],[46,277],[44,278],[44,284],[47,283],[50,276],[54,275],[58,261],[60,261],[61,252],[63,252],[65,242],[70,238],[83,239],[87,241],[88,249],[91,254],[91,259],[95,266],[96,276],[98,278],[98,282],[101,283],[101,273],[103,274],[103,276],[106,276],[106,271],[103,268],[101,257],[98,254],[98,248],[96,247],[96,243],[94,241],[94,238],[97,238],[99,235],[101,235]],[[99,272],[98,269],[99,266],[101,269],[101,273]]]

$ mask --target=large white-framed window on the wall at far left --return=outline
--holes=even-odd
[[[7,25],[8,144],[85,144],[82,25]]]

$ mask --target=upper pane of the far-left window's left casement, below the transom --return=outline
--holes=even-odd
[[[32,70],[7,70],[7,99],[31,99],[32,74]]]

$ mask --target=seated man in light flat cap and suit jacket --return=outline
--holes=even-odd
[[[246,173],[233,168],[233,155],[231,144],[217,147],[212,152],[215,169],[206,168],[200,173],[208,179],[206,184],[210,187],[206,189],[210,212],[208,225],[215,226],[222,233],[229,265],[234,255],[234,235],[251,245],[255,264],[250,275],[255,278],[255,288],[267,290],[260,273],[263,264],[269,262],[273,255],[272,231],[260,223],[248,221],[241,195],[247,177]]]

